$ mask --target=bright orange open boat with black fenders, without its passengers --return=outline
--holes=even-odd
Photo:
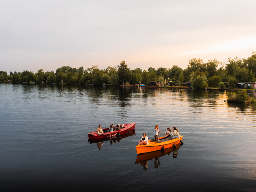
[[[160,137],[158,140],[163,138],[164,137]],[[183,143],[182,139],[183,139],[183,136],[179,135],[179,138],[161,142],[161,143],[155,143],[155,142],[151,142],[151,140],[148,140],[148,145],[137,145],[136,151],[137,151],[137,154],[141,154],[141,153],[148,153],[152,151],[158,151],[161,149],[163,150],[173,146],[176,147],[178,143]]]

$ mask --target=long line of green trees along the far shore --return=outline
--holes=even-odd
[[[149,67],[148,70],[136,68],[131,70],[125,61],[121,61],[117,67],[108,66],[99,69],[97,65],[84,70],[84,67],[72,68],[62,66],[56,72],[39,69],[37,73],[32,71],[10,72],[0,71],[0,81],[12,80],[12,82],[42,82],[66,84],[94,84],[102,85],[123,85],[125,81],[130,84],[139,82],[149,84],[150,81],[165,80],[172,81],[172,85],[181,86],[190,81],[193,88],[219,87],[221,82],[227,82],[231,88],[235,88],[238,82],[255,82],[256,73],[256,52],[248,58],[228,58],[227,63],[218,60],[208,60],[206,63],[202,59],[193,58],[188,61],[185,69],[173,65],[172,68],[159,67],[157,69]]]

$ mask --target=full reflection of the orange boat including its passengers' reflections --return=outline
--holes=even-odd
[[[137,159],[135,161],[135,164],[139,164],[143,167],[143,169],[146,171],[148,169],[148,162],[154,159],[154,167],[157,169],[160,166],[159,157],[170,155],[170,153],[173,151],[173,158],[177,158],[179,148],[182,144],[177,144],[177,148],[174,150],[173,147],[167,148],[159,151],[154,151],[150,153],[144,153],[137,155]]]

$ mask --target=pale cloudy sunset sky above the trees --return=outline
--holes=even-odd
[[[256,1],[0,1],[0,70],[186,68],[250,57]]]

